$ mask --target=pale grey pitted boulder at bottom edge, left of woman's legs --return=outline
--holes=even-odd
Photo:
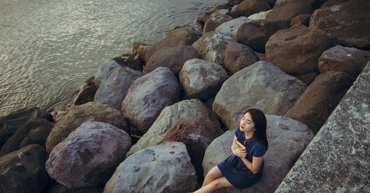
[[[194,166],[182,142],[143,149],[122,162],[104,187],[106,193],[192,192]]]

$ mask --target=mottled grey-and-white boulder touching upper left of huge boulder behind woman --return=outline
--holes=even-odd
[[[229,76],[221,65],[194,58],[185,62],[179,78],[189,98],[206,100],[216,95]]]

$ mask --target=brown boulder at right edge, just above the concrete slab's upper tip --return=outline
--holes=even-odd
[[[320,56],[319,69],[320,73],[339,71],[357,78],[369,60],[369,51],[336,45]]]

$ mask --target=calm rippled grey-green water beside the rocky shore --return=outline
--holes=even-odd
[[[156,43],[226,0],[1,0],[0,116],[61,111],[134,42]]]

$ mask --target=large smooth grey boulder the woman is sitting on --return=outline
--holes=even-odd
[[[263,156],[265,167],[261,179],[246,189],[229,187],[218,192],[273,192],[314,137],[312,131],[301,122],[276,115],[266,115],[266,119],[269,149]],[[208,146],[203,159],[204,175],[232,155],[230,147],[233,138],[234,131],[227,131]]]

